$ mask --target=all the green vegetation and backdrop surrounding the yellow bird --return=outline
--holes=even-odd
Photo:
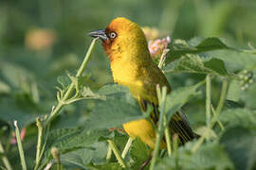
[[[150,111],[141,112],[131,93],[112,82],[100,42],[88,50],[85,33],[106,26],[116,16],[157,27],[156,38],[166,36],[164,30],[173,31],[162,69],[174,90],[161,100],[160,109],[164,105],[165,109],[160,112],[168,120],[182,108],[201,135],[180,147],[172,138],[171,152],[160,151],[155,169],[256,168],[253,0],[177,0],[157,5],[28,2],[0,3],[2,168],[22,169],[26,161],[27,169],[138,169],[148,158],[151,150],[139,139],[124,160],[110,152],[111,142],[122,152],[128,141],[121,124],[147,118]],[[109,14],[113,7],[115,12]],[[20,148],[15,132],[18,137],[21,132]],[[25,161],[20,159],[21,148]]]

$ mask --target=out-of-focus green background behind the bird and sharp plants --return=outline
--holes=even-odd
[[[169,32],[172,39],[220,37],[231,46],[256,46],[255,0],[1,0],[0,1],[0,127],[4,144],[12,138],[12,120],[21,127],[56,104],[57,77],[75,72],[91,42],[87,32],[104,28],[116,17],[126,17],[139,26]],[[87,72],[93,90],[111,83],[109,62],[98,42]],[[176,88],[204,76],[168,76]],[[185,80],[184,80],[185,79]],[[219,95],[213,82],[213,102]],[[215,98],[215,100],[214,100]],[[204,98],[194,100],[194,112],[204,110]],[[93,104],[68,106],[54,127],[82,125]],[[189,111],[192,112],[192,111]],[[200,117],[201,115],[201,117]],[[192,116],[192,125],[205,118]],[[68,120],[66,119],[68,117]],[[199,120],[199,121],[198,121]],[[25,149],[35,147],[36,128],[27,128]],[[34,150],[27,151],[34,158]],[[9,153],[16,147],[8,147]],[[18,155],[10,155],[10,160]],[[30,159],[30,163],[33,160]],[[28,162],[29,163],[29,162]]]

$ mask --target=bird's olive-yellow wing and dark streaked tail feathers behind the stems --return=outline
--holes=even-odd
[[[144,92],[140,93],[137,99],[142,110],[147,110],[147,106],[149,105],[153,106],[154,110],[151,113],[151,119],[157,126],[159,110],[157,94],[155,91],[156,84],[159,84],[160,87],[166,86],[168,93],[171,92],[171,87],[166,76],[164,76],[157,66],[153,64],[150,67],[150,70],[147,68],[149,67],[145,67],[145,70],[142,70],[143,76],[141,81],[143,82]],[[178,134],[181,144],[185,144],[195,137],[186,115],[180,110],[174,113],[169,127],[172,134]]]

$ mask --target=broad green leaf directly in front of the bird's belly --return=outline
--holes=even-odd
[[[88,120],[91,128],[118,127],[123,123],[144,118],[131,93],[114,93],[105,101],[97,101]]]

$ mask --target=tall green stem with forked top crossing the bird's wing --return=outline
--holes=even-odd
[[[153,152],[153,158],[151,161],[150,170],[154,170],[154,168],[155,168],[155,162],[158,157],[158,152],[160,149],[159,147],[160,147],[160,143],[162,141],[162,137],[163,137],[163,133],[164,133],[163,117],[165,114],[167,88],[163,87],[161,94],[159,94],[159,90],[157,90],[158,88],[159,88],[159,86],[156,87],[157,96],[161,96],[161,98],[158,98],[159,106],[160,106],[160,115],[159,115],[159,121],[158,121],[158,128],[157,128],[157,131],[155,132],[155,138],[156,138],[155,139],[155,149]]]

